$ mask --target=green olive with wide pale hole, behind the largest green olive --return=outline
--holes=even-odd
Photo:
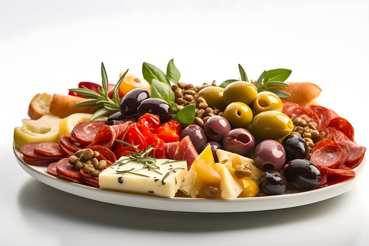
[[[258,96],[252,105],[254,106],[256,114],[271,110],[282,112],[283,110],[283,103],[280,98],[269,91],[258,93]]]

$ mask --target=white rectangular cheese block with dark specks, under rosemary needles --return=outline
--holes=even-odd
[[[123,159],[127,159],[127,157],[123,156],[120,158],[120,160]],[[164,163],[168,161],[172,160],[156,160],[156,166],[159,169],[155,170],[161,174],[152,170],[142,169],[144,164],[138,162],[128,162],[121,166],[119,164],[110,166],[99,174],[100,189],[159,197],[174,197],[182,184],[184,175],[187,173],[187,163],[186,161]],[[149,177],[132,173],[117,173],[117,171],[128,170]],[[163,180],[168,172],[169,175]]]

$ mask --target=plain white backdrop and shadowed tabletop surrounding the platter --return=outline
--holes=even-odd
[[[335,198],[264,212],[191,214],[105,204],[32,179],[15,162],[13,129],[37,93],[80,80],[111,83],[171,58],[183,82],[218,83],[291,69],[368,145],[368,1],[0,0],[2,245],[364,245],[368,170]],[[368,168],[366,168],[368,169]]]

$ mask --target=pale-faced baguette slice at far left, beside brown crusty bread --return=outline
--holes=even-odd
[[[52,96],[50,94],[37,94],[32,98],[28,107],[28,116],[31,119],[39,119],[45,114],[49,114],[50,103]]]

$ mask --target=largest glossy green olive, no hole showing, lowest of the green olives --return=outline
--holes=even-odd
[[[262,139],[279,139],[292,132],[292,120],[278,111],[257,114],[252,121],[252,132]]]

